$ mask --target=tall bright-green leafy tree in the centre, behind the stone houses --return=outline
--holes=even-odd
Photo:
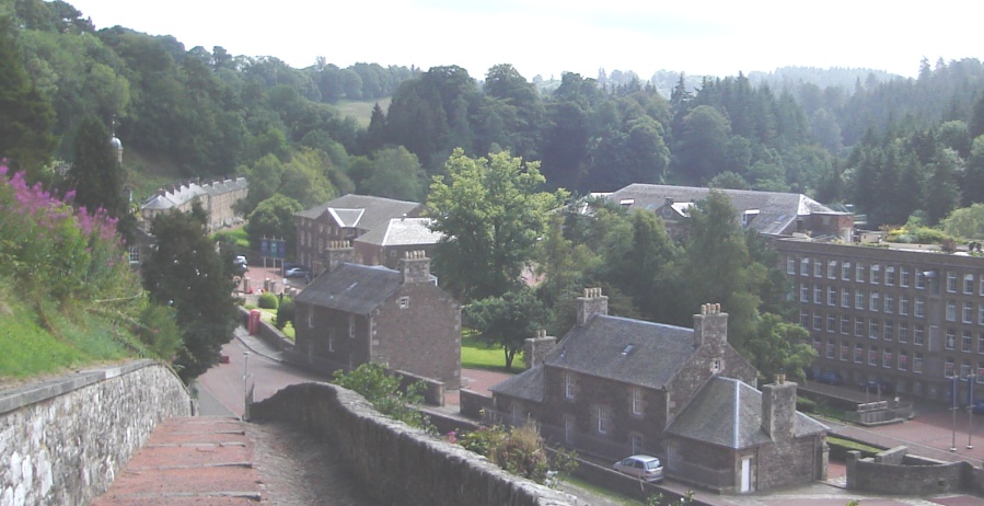
[[[459,298],[502,296],[519,283],[549,212],[566,197],[536,192],[544,182],[539,166],[508,153],[473,159],[455,149],[447,182],[433,179],[427,216],[431,229],[444,233],[435,271]]]

